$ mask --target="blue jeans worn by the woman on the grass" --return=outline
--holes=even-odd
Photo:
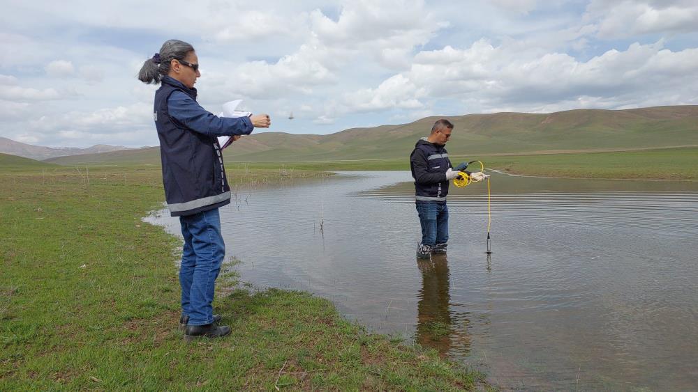
[[[179,217],[184,249],[179,268],[182,314],[190,325],[214,322],[214,288],[225,258],[218,208]]]

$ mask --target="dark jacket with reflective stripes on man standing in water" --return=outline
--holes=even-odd
[[[412,177],[415,179],[417,201],[446,202],[448,181],[446,171],[451,166],[443,145],[419,139],[410,155]]]

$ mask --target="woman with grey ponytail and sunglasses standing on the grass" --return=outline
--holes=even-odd
[[[161,84],[155,93],[154,120],[160,138],[165,198],[179,217],[184,249],[179,269],[184,340],[230,334],[213,314],[214,284],[225,257],[218,207],[230,203],[218,136],[251,134],[270,125],[267,114],[241,118],[214,116],[196,102],[201,77],[194,48],[168,40],[143,64],[138,79]]]

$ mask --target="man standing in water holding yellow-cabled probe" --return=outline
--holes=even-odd
[[[459,175],[458,171],[452,169],[445,148],[452,130],[453,124],[449,120],[442,118],[436,121],[431,127],[431,134],[419,139],[410,155],[412,177],[415,179],[417,213],[422,225],[422,242],[417,246],[417,258],[430,258],[431,253],[446,253],[448,182]],[[466,173],[475,181],[489,177],[480,171]]]

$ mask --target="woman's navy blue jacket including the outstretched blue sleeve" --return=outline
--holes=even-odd
[[[170,113],[168,100],[175,92],[191,100],[177,104]],[[165,199],[173,217],[213,210],[230,203],[223,156],[217,136],[250,134],[249,118],[219,118],[196,103],[196,89],[163,77],[155,93],[155,127],[160,139]]]

